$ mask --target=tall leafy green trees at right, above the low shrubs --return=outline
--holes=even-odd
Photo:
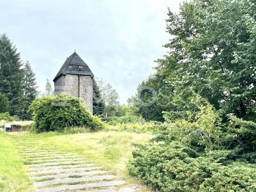
[[[172,38],[164,45],[168,54],[157,60],[156,75],[140,86],[151,86],[157,98],[162,94],[159,87],[169,84],[172,87],[169,90],[173,90],[165,93],[170,100],[184,93],[198,93],[223,118],[235,114],[253,119],[256,115],[255,9],[255,3],[249,0],[194,0],[183,3],[179,13],[169,9],[167,32]],[[147,94],[142,94],[142,99],[150,98]],[[187,104],[183,102],[183,106]],[[151,106],[139,107],[139,113],[154,119],[161,110],[183,110],[182,106],[176,107],[159,107],[156,99]],[[150,116],[153,113],[154,117]]]

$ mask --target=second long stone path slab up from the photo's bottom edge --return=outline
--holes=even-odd
[[[39,181],[35,182],[34,185],[36,187],[46,186],[46,185],[53,185],[53,184],[68,184],[74,182],[86,182],[86,181],[98,181],[98,180],[105,180],[105,179],[113,179],[115,175],[95,175],[93,177],[82,177],[82,178],[58,178],[49,181]]]

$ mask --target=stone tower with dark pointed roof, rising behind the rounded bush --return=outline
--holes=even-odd
[[[74,52],[53,79],[54,94],[63,92],[81,98],[85,101],[86,108],[92,113],[93,77],[89,66]]]

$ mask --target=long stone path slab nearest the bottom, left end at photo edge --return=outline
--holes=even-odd
[[[65,186],[58,186],[58,187],[48,187],[48,188],[36,189],[36,192],[49,192],[49,191],[58,192],[58,191],[65,191],[65,190],[119,186],[124,184],[125,184],[124,180],[116,180],[116,181],[94,182],[94,183],[77,184],[77,185],[65,185]]]

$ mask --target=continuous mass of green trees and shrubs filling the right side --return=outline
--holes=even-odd
[[[168,54],[130,99],[163,124],[134,151],[132,175],[165,192],[256,191],[255,10],[253,0],[169,10]]]

